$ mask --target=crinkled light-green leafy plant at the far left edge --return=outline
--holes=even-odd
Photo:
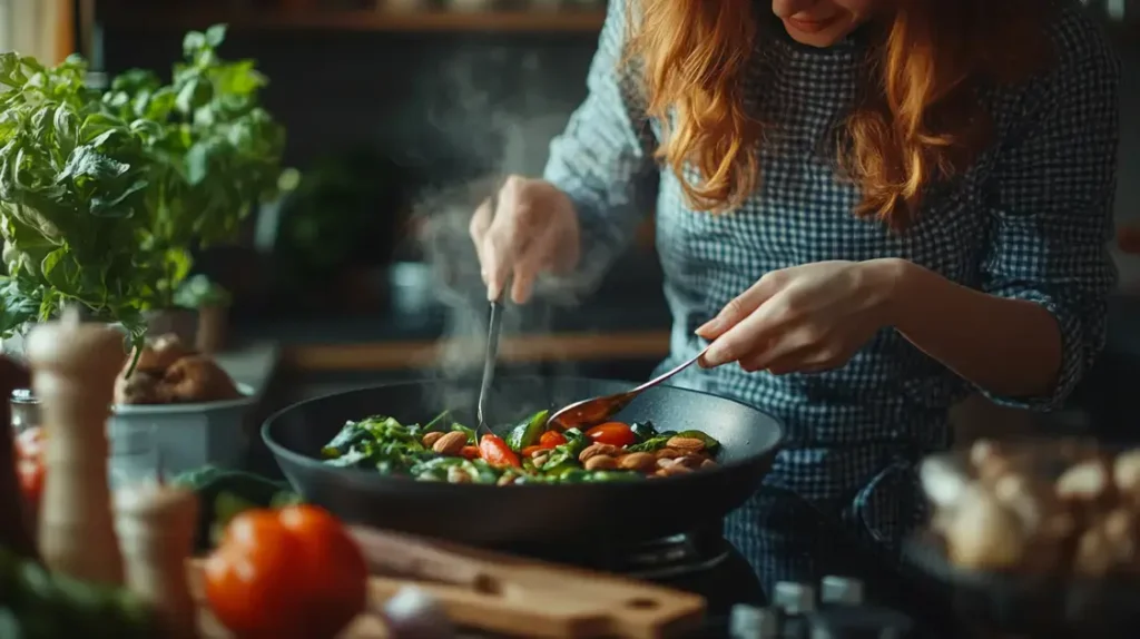
[[[0,54],[0,285],[10,335],[80,304],[141,339],[152,161],[138,123],[101,110],[87,66]]]

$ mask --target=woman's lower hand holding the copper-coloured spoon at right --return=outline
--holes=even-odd
[[[712,342],[701,366],[740,362],[774,375],[838,368],[890,325],[905,262],[815,262],[772,271],[697,334]]]

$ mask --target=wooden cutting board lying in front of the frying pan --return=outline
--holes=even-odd
[[[674,637],[705,616],[702,597],[650,583],[397,533],[352,532],[374,573],[373,609],[415,585],[435,597],[456,625],[536,639]],[[190,588],[204,603],[201,573],[201,560],[192,560]],[[202,607],[203,634],[228,639]],[[343,639],[385,637],[378,617],[363,614]]]

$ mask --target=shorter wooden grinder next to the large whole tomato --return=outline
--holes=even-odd
[[[115,491],[127,587],[158,613],[164,639],[197,637],[197,607],[186,577],[197,517],[197,497],[185,489],[154,482]]]

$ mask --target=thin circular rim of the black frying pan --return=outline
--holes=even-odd
[[[627,380],[624,380],[624,379],[605,379],[605,378],[600,378],[600,377],[576,377],[576,376],[544,377],[544,376],[540,376],[540,375],[514,375],[514,376],[505,376],[504,378],[510,378],[510,379],[538,379],[538,380],[557,379],[557,380],[562,380],[562,382],[584,382],[584,383],[612,382],[612,383],[618,383],[618,384],[622,384],[622,383],[627,382]],[[522,485],[511,484],[508,486],[499,486],[499,485],[496,485],[496,484],[474,484],[474,483],[469,483],[469,484],[453,484],[453,483],[448,483],[448,482],[421,482],[421,481],[418,481],[416,478],[413,478],[413,477],[382,475],[380,473],[376,473],[376,472],[373,472],[373,470],[368,470],[368,469],[365,469],[365,468],[333,467],[333,466],[328,466],[326,464],[323,464],[323,461],[320,459],[316,458],[316,457],[309,457],[307,454],[302,454],[300,452],[295,452],[295,451],[291,450],[291,449],[288,449],[283,443],[275,441],[274,437],[271,436],[271,429],[272,429],[274,425],[277,423],[277,420],[280,418],[280,416],[283,416],[283,415],[285,415],[287,412],[291,412],[291,411],[293,411],[293,410],[295,410],[299,407],[304,405],[304,404],[317,403],[317,402],[320,402],[323,400],[327,400],[329,398],[335,398],[335,396],[339,396],[339,395],[348,395],[350,393],[358,393],[358,392],[363,392],[363,391],[373,391],[373,390],[380,390],[380,388],[392,388],[392,387],[398,387],[398,386],[426,386],[426,385],[442,385],[442,384],[448,384],[448,380],[446,380],[446,379],[439,379],[439,378],[422,378],[422,379],[409,380],[409,382],[393,382],[393,383],[390,383],[390,384],[372,384],[372,385],[366,385],[366,386],[358,386],[358,387],[353,387],[353,388],[349,388],[349,390],[344,390],[344,391],[339,391],[339,392],[333,392],[333,393],[325,393],[323,395],[318,395],[316,398],[309,398],[307,400],[301,400],[299,402],[292,403],[292,404],[290,404],[290,405],[287,405],[285,408],[282,408],[282,409],[278,409],[278,410],[274,411],[271,415],[269,415],[264,419],[264,421],[261,424],[261,441],[264,442],[266,447],[269,448],[269,450],[276,457],[287,459],[292,464],[298,464],[298,465],[301,465],[301,466],[304,466],[304,467],[316,468],[316,469],[319,469],[319,472],[321,472],[321,473],[332,473],[332,474],[336,474],[336,475],[340,475],[340,476],[343,476],[343,477],[348,477],[348,478],[361,478],[361,480],[367,478],[367,481],[370,481],[370,482],[383,482],[383,483],[405,483],[405,482],[406,483],[414,483],[417,486],[422,486],[421,489],[417,489],[417,490],[439,490],[440,492],[443,492],[443,491],[456,491],[456,490],[463,490],[463,491],[466,491],[466,492],[471,492],[471,491],[500,491],[500,490],[504,490],[504,489],[507,489],[507,490],[530,490],[530,491],[540,491],[540,490],[551,491],[551,490],[559,490],[559,489],[568,489],[568,488],[572,486],[572,488],[581,491],[581,490],[604,490],[604,489],[612,489],[614,485],[630,486],[628,490],[637,490],[637,489],[633,489],[632,486],[645,486],[645,485],[653,486],[653,485],[660,484],[661,482],[677,483],[677,482],[700,482],[700,481],[708,481],[710,478],[719,477],[720,475],[723,475],[724,473],[726,473],[726,472],[728,472],[731,469],[744,467],[744,466],[747,466],[750,462],[750,460],[752,460],[752,459],[755,459],[757,457],[774,456],[783,447],[783,441],[784,441],[784,435],[785,435],[785,428],[784,428],[783,421],[780,418],[775,417],[774,415],[772,415],[769,412],[766,412],[764,410],[760,410],[759,408],[756,408],[754,405],[749,405],[749,404],[747,404],[747,403],[744,403],[742,401],[739,401],[736,399],[733,399],[733,398],[726,398],[724,395],[717,395],[717,394],[714,394],[714,393],[709,393],[708,391],[698,391],[695,388],[684,388],[684,387],[674,386],[674,385],[670,385],[670,384],[661,384],[659,387],[666,387],[666,388],[669,388],[669,390],[675,391],[675,392],[692,393],[692,394],[697,394],[697,395],[705,395],[705,396],[714,398],[716,400],[725,401],[725,402],[730,402],[730,403],[734,403],[734,404],[736,404],[736,405],[739,405],[741,408],[744,408],[744,409],[748,409],[748,410],[752,410],[752,411],[756,411],[756,412],[763,415],[764,417],[766,417],[771,421],[771,425],[772,425],[773,429],[775,431],[775,433],[774,433],[774,435],[775,435],[774,436],[774,442],[771,443],[769,445],[765,447],[762,450],[762,452],[757,453],[756,456],[743,458],[743,459],[739,459],[739,460],[733,461],[731,464],[722,465],[722,466],[719,466],[717,468],[714,468],[711,470],[702,470],[700,473],[690,473],[690,474],[686,474],[686,475],[674,475],[674,476],[670,476],[670,477],[659,477],[659,478],[653,480],[652,482],[645,480],[645,481],[618,482],[618,483],[614,483],[614,482],[597,482],[597,483],[585,482],[585,483],[576,483],[576,484],[522,484]],[[630,382],[630,384],[632,385],[636,385],[637,383],[636,382]],[[282,470],[284,472],[284,468],[282,468]],[[589,486],[589,488],[587,488],[587,486]]]

